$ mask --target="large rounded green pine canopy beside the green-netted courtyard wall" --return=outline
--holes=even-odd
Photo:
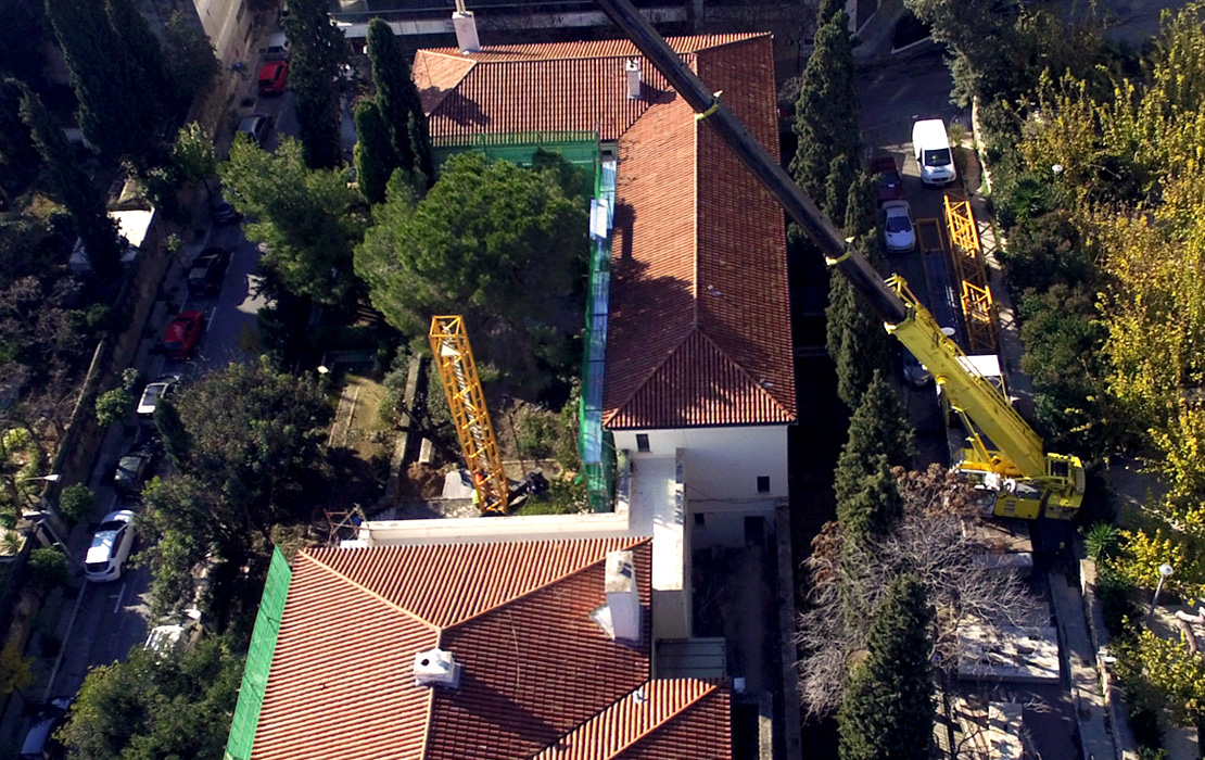
[[[465,314],[474,350],[521,384],[547,382],[540,363],[565,365],[564,330],[552,328],[576,318],[588,252],[580,172],[541,161],[455,155],[417,204],[395,176],[355,249],[372,305],[417,347],[433,314]]]

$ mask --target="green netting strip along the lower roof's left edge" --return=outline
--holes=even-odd
[[[272,666],[276,636],[281,631],[281,613],[284,612],[284,597],[288,596],[292,578],[293,571],[284,555],[280,549],[274,549],[272,564],[268,567],[268,581],[264,583],[264,596],[259,601],[259,614],[251,634],[251,649],[247,652],[247,667],[242,672],[239,705],[230,724],[225,760],[251,758],[255,729],[259,726],[259,711],[264,706],[264,689],[268,688],[268,671]]]

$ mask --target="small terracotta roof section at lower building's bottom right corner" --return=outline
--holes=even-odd
[[[727,689],[693,678],[649,681],[533,760],[727,760],[729,725]],[[665,736],[683,726],[688,737]]]

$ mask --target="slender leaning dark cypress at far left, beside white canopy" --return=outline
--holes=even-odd
[[[20,117],[29,126],[34,146],[42,157],[51,192],[71,216],[93,271],[102,279],[116,278],[120,266],[122,243],[117,235],[117,223],[105,208],[101,188],[76,164],[71,143],[37,95],[13,79],[8,84],[22,92]]]

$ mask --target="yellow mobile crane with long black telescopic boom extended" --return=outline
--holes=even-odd
[[[1042,441],[1004,395],[965,361],[963,352],[900,277],[886,282],[766,153],[721,100],[687,66],[628,0],[598,0],[610,19],[695,112],[706,120],[753,176],[782,204],[787,214],[824,252],[883,318],[887,331],[912,352],[941,384],[951,407],[963,417],[970,448],[954,469],[991,494],[1001,517],[1070,519],[1083,501],[1083,464],[1077,456],[1046,453]]]

